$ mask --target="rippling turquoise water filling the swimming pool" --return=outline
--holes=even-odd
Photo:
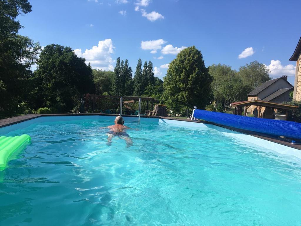
[[[0,172],[0,225],[301,225],[298,159],[225,136],[111,121],[34,124],[32,143]]]

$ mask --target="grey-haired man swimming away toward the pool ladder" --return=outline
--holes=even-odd
[[[125,132],[125,130],[131,129],[130,127],[124,126],[124,120],[121,116],[117,116],[114,121],[115,125],[108,126],[110,131],[108,132],[108,142],[107,145],[112,144],[113,137],[117,136],[126,141],[126,146],[129,147],[133,144],[133,141],[129,134]]]

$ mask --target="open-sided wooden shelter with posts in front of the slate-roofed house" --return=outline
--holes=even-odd
[[[278,104],[278,103],[272,103],[272,102],[265,102],[261,100],[253,100],[253,101],[241,101],[241,102],[234,102],[231,103],[231,106],[235,107],[235,115],[241,115],[242,108],[244,108],[244,116],[247,116],[247,109],[250,106],[256,106],[258,115],[257,118],[260,117],[260,111],[262,107],[268,107],[272,108],[274,111],[275,109],[284,109],[285,110],[285,120],[287,120],[288,117],[288,110],[296,110],[298,107],[293,105],[287,105],[287,104]]]

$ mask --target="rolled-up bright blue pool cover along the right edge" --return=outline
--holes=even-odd
[[[220,125],[301,140],[301,123],[297,122],[252,118],[198,109],[194,111],[193,116]]]

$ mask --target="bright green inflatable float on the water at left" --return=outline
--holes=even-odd
[[[9,157],[22,147],[23,144],[29,143],[30,139],[27,134],[15,137],[0,137],[0,171],[7,167]]]

